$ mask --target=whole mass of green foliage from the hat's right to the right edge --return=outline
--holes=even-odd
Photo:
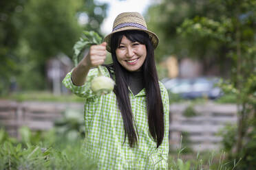
[[[222,143],[230,161],[242,158],[237,169],[256,167],[255,18],[255,0],[166,0],[149,8],[149,27],[164,41],[157,53],[198,58],[204,71],[219,66],[228,77],[221,86],[235,97],[238,121]]]

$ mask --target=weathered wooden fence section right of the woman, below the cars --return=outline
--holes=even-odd
[[[170,146],[180,147],[182,133],[186,132],[189,147],[196,151],[220,148],[222,137],[218,132],[227,123],[237,122],[237,107],[234,104],[215,104],[206,102],[193,106],[195,115],[184,115],[190,104],[172,104],[170,106]]]

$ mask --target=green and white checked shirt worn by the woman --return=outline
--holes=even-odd
[[[105,76],[109,77],[109,71],[103,68]],[[97,75],[98,69],[91,69],[83,86],[72,83],[71,72],[63,80],[72,93],[85,98],[85,154],[97,160],[98,169],[167,169],[169,97],[163,84],[159,85],[164,106],[164,140],[158,149],[149,132],[145,88],[137,95],[130,90],[131,109],[139,135],[138,146],[131,148],[128,138],[124,143],[125,131],[114,92],[97,97],[90,89],[90,82]]]

